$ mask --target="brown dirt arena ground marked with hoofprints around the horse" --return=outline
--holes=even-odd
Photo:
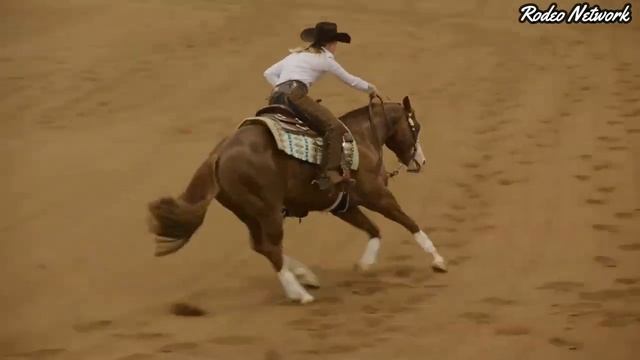
[[[637,359],[640,20],[524,25],[520,5],[0,1],[0,356]],[[379,216],[379,264],[354,272],[366,236],[314,214],[285,247],[323,287],[291,305],[217,203],[154,258],[147,202],[182,191],[327,19],[353,37],[348,70],[413,99],[428,168],[390,186],[450,272]],[[366,103],[330,77],[313,95]]]

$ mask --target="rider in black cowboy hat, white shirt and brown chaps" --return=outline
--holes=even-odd
[[[311,44],[290,50],[291,54],[268,68],[264,76],[274,87],[269,104],[287,105],[304,114],[309,128],[323,136],[321,175],[315,182],[324,190],[345,180],[339,169],[346,129],[326,107],[308,96],[309,87],[324,73],[330,72],[347,85],[370,95],[376,95],[377,89],[349,74],[336,62],[334,54],[338,42],[350,43],[351,36],[338,32],[335,23],[319,22],[315,28],[304,29],[300,38]]]

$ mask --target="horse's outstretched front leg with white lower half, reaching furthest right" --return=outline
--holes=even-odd
[[[402,225],[405,229],[410,231],[418,245],[433,256],[432,266],[434,270],[447,271],[444,258],[440,256],[431,239],[429,239],[427,234],[420,229],[418,224],[416,224],[416,222],[402,210],[391,191],[386,188],[380,188],[369,196],[371,200],[363,203],[362,205],[364,207],[381,214],[387,219]]]

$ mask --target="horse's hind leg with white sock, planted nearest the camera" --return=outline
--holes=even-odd
[[[258,218],[260,239],[253,239],[254,250],[269,259],[274,270],[278,273],[278,279],[287,297],[306,304],[314,300],[313,296],[300,285],[296,275],[291,271],[292,267],[295,269],[296,262],[290,264],[291,259],[282,254],[282,238],[284,236],[282,220],[282,214],[279,211]]]

